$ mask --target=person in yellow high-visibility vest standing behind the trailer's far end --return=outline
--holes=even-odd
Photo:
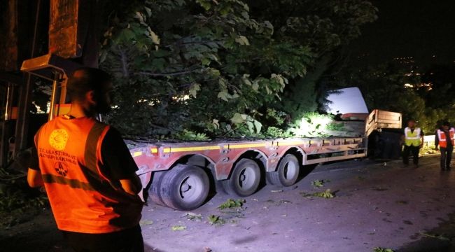
[[[409,165],[409,151],[412,152],[414,167],[419,167],[419,150],[423,146],[423,131],[416,127],[414,120],[409,120],[405,128],[405,135],[401,138],[401,144],[405,144],[403,151],[403,163]]]

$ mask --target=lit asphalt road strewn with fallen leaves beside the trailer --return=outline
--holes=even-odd
[[[189,215],[151,203],[142,218],[146,251],[455,251],[455,171],[441,173],[437,164],[430,157],[417,169],[370,160],[302,167],[310,173],[295,186],[265,186],[224,211],[216,207],[237,197],[213,195]],[[315,180],[330,182],[314,188]],[[308,196],[327,189],[335,197]],[[1,230],[0,248],[71,251],[49,212],[31,223]]]

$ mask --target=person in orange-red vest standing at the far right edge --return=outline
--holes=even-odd
[[[450,170],[451,153],[454,151],[454,133],[455,129],[450,127],[449,122],[442,123],[442,128],[436,131],[435,146],[436,151],[441,151],[441,171]]]

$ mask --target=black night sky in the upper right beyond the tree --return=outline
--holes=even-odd
[[[419,66],[455,64],[454,0],[370,1],[379,18],[360,27],[362,36],[348,46],[353,64],[375,65],[395,57],[413,57]]]

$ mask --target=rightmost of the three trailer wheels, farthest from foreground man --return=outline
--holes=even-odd
[[[267,172],[267,181],[276,186],[292,186],[299,176],[299,162],[295,155],[286,155],[279,162],[276,172]]]

